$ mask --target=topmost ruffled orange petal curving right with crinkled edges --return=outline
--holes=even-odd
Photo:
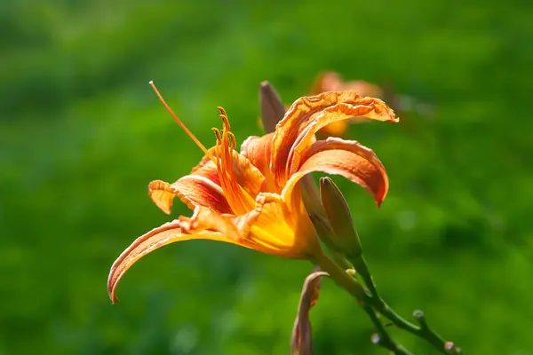
[[[274,134],[271,166],[278,185],[290,175],[292,155],[300,154],[313,142],[322,127],[352,117],[398,122],[394,111],[380,99],[362,98],[354,91],[324,92],[296,100],[279,122]],[[298,160],[298,156],[296,158]]]

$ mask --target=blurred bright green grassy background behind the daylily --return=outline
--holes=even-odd
[[[533,354],[529,2],[0,3],[0,353],[286,354],[312,265],[194,241],[156,251],[107,297],[109,267],[170,219],[147,183],[174,181],[224,106],[261,133],[259,82],[287,103],[315,75],[388,84],[432,106],[350,127],[386,165],[381,209],[336,179],[389,304],[422,309],[469,354]],[[190,214],[180,203],[173,215]],[[317,354],[384,354],[330,280]],[[435,353],[391,328],[416,354]]]

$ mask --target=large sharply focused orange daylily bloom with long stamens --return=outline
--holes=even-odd
[[[247,138],[240,152],[235,150],[226,112],[220,107],[219,111],[222,129],[213,129],[216,145],[211,149],[203,147],[171,112],[205,155],[189,175],[173,184],[152,181],[149,196],[165,213],[171,213],[176,197],[194,213],[153,229],[123,251],[107,283],[113,302],[116,285],[132,264],[175,241],[225,241],[274,256],[313,259],[320,245],[298,188],[299,180],[310,172],[342,175],[362,185],[378,206],[384,200],[388,177],[376,154],[355,141],[314,138],[331,122],[352,117],[398,122],[380,99],[363,98],[354,91],[298,99],[274,132]]]

